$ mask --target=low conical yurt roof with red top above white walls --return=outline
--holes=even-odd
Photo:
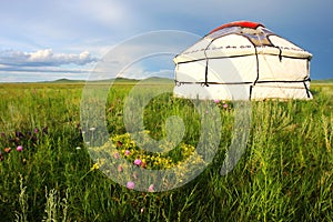
[[[259,22],[235,21],[210,31],[174,58],[174,62],[248,54],[276,54],[311,60],[312,54]]]

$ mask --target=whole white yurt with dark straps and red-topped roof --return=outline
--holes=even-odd
[[[174,95],[189,99],[312,99],[312,54],[263,24],[223,24],[182,53]]]

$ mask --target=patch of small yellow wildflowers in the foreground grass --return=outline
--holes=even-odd
[[[147,132],[145,132],[147,133]],[[140,142],[140,144],[144,141]],[[186,176],[192,176],[200,169],[199,165],[205,164],[202,157],[196,152],[195,148],[181,142],[175,148],[165,148],[169,144],[161,145],[161,150],[171,150],[168,152],[148,152],[139,148],[129,133],[112,137],[104,145],[92,148],[95,157],[98,157],[99,165],[105,174],[117,175],[120,180],[125,178],[124,184],[128,189],[135,189],[138,180],[144,181],[140,173],[141,169],[148,170],[165,170],[170,169],[174,172],[178,182]],[[171,145],[171,144],[170,144]],[[138,170],[138,171],[137,171]],[[147,180],[147,190],[155,192],[154,184],[149,184]]]

